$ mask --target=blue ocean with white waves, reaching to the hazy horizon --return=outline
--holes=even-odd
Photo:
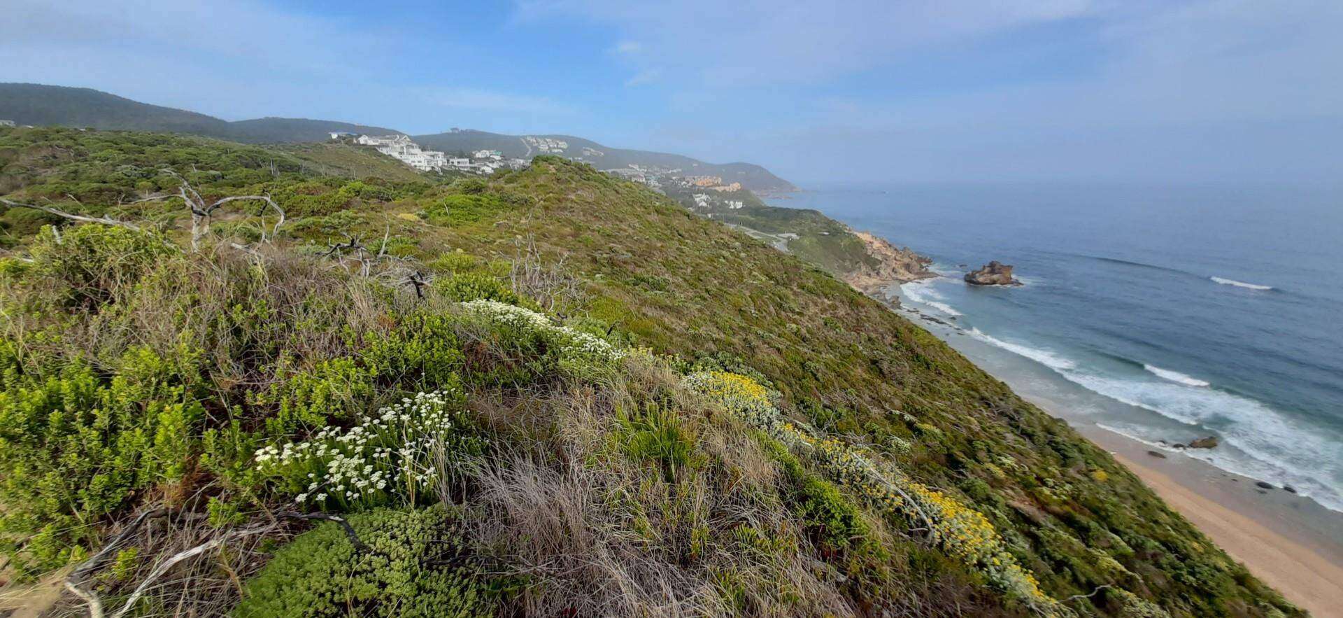
[[[1027,399],[1154,449],[1215,435],[1185,453],[1343,511],[1343,191],[849,184],[770,202],[932,258],[944,277],[900,286],[904,305]],[[1026,285],[962,281],[991,259]]]

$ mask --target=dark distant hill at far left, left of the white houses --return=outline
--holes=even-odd
[[[0,83],[0,118],[20,125],[191,133],[252,144],[324,141],[336,130],[400,133],[381,126],[306,118],[230,122],[195,112],[141,103],[101,90],[39,83]]]

